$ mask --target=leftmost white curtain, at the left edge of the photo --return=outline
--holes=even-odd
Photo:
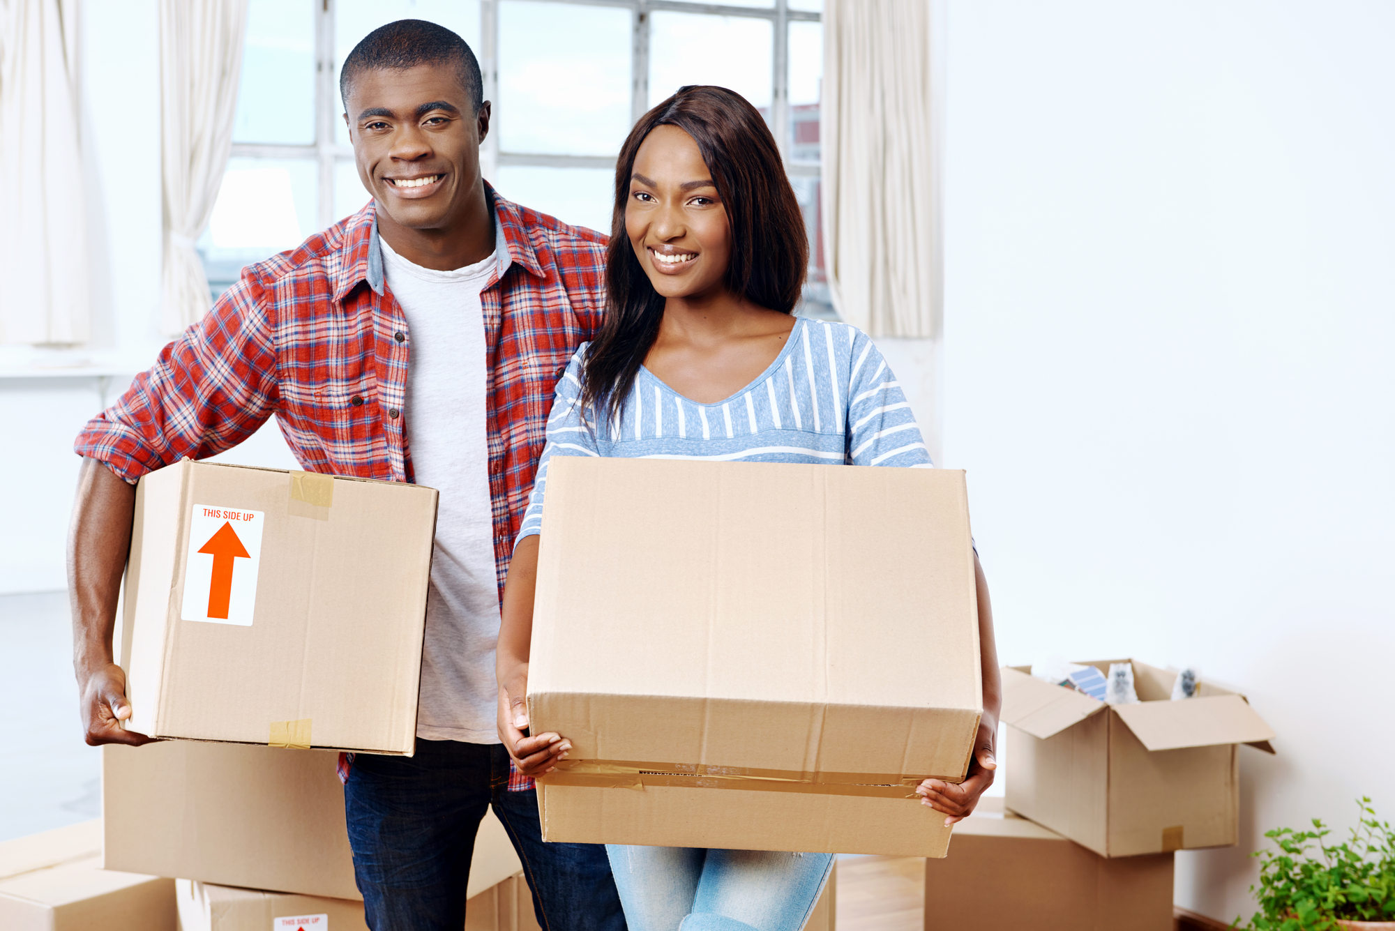
[[[82,343],[77,0],[0,0],[0,343]]]

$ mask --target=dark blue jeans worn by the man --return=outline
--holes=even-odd
[[[417,740],[360,753],[345,783],[354,878],[374,931],[460,931],[474,835],[488,806],[518,850],[544,931],[625,931],[605,849],[543,843],[536,792],[508,792],[501,744]]]

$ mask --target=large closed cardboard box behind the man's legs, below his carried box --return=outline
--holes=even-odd
[[[102,748],[106,865],[218,885],[361,899],[338,754],[169,741]],[[487,813],[466,892],[520,870]]]

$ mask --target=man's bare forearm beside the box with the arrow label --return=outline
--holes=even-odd
[[[135,486],[103,463],[84,459],[68,525],[68,599],[78,682],[112,662],[112,627],[134,516]]]

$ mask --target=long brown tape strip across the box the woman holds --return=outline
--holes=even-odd
[[[944,776],[903,776],[900,774],[820,772],[711,767],[704,764],[661,764],[624,760],[564,760],[543,776],[545,785],[643,789],[678,786],[685,789],[746,789],[756,792],[804,792],[829,796],[876,799],[919,799],[915,786],[922,779]]]

